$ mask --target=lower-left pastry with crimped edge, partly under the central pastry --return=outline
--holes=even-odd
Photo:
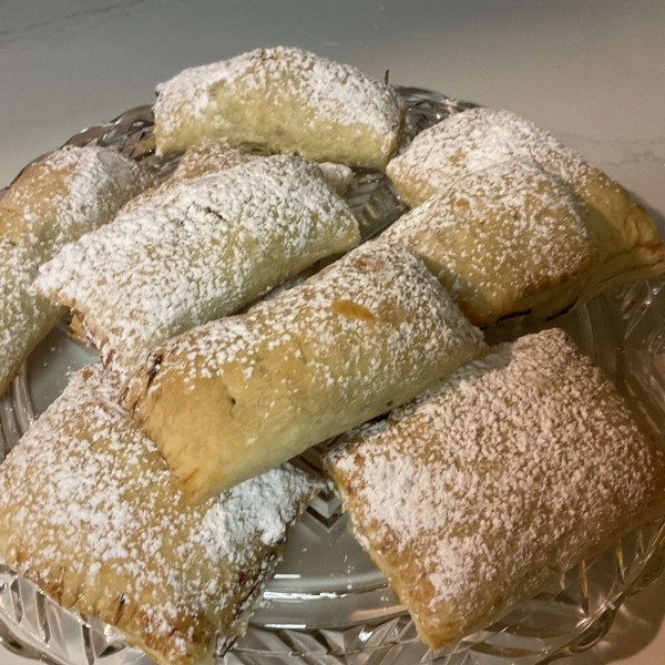
[[[244,633],[317,485],[285,466],[191,508],[114,395],[100,366],[80,370],[9,454],[0,549],[160,665],[212,665]]]

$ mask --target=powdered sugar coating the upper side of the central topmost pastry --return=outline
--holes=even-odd
[[[336,303],[350,304],[348,311],[336,313]],[[361,339],[366,348],[360,352],[355,345],[344,344],[332,321],[354,339]],[[372,330],[378,332],[376,339]],[[173,364],[171,370],[185,372],[188,381],[223,376],[225,366],[236,362],[245,368],[249,381],[262,362],[256,357],[259,349],[276,355],[290,352],[289,342],[298,338],[316,339],[320,347],[318,352],[308,348],[315,355],[307,358],[309,370],[320,374],[320,383],[335,386],[339,391],[355,386],[358,391],[360,380],[362,388],[356,397],[359,401],[371,399],[380,383],[392,383],[396,376],[401,382],[403,376],[398,366],[417,374],[420,368],[436,367],[446,352],[454,355],[458,345],[464,358],[483,348],[480,330],[464,320],[409,250],[366,243],[308,282],[257,304],[246,315],[191,330],[154,355],[168,359]],[[346,371],[338,371],[326,361],[328,351],[340,347],[346,349]],[[357,376],[352,370],[361,356],[367,357],[369,367],[365,376]],[[166,360],[162,372],[165,366]],[[437,372],[432,374],[436,382]],[[380,375],[385,376],[379,379]],[[154,377],[151,391],[160,390],[161,376],[160,372]],[[330,407],[336,409],[338,403],[342,402],[332,399]]]

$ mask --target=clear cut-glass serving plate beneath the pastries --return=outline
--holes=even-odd
[[[398,89],[407,100],[405,145],[419,131],[475,104],[436,92]],[[166,178],[178,155],[157,157],[152,111],[140,106],[73,136],[133,157]],[[0,196],[1,196],[0,192]],[[346,196],[364,239],[378,235],[407,209],[378,171],[355,170]],[[665,432],[665,277],[610,290],[549,326],[565,328],[580,349],[615,381],[656,434]],[[520,320],[497,326],[489,341],[533,331]],[[0,400],[0,456],[64,389],[68,375],[95,362],[96,354],[68,337],[61,321],[30,356]],[[326,444],[297,463],[323,477]],[[1,458],[0,458],[1,459]],[[593,491],[593,488],[589,488]],[[329,489],[314,502],[286,545],[264,590],[264,603],[225,665],[536,665],[593,646],[631,594],[665,565],[665,525],[646,524],[580,563],[550,589],[500,622],[452,647],[431,651],[418,640],[409,614],[347,529]],[[0,641],[23,656],[58,665],[149,665],[120,633],[63,610],[0,562]]]

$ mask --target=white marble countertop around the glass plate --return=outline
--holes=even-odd
[[[0,0],[0,184],[183,68],[280,43],[515,111],[665,229],[663,0]],[[664,616],[661,579],[569,663],[665,663]]]

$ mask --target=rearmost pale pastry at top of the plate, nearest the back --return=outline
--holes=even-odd
[[[383,168],[397,152],[403,115],[401,98],[389,85],[287,47],[187,69],[157,93],[161,153],[222,141]]]

